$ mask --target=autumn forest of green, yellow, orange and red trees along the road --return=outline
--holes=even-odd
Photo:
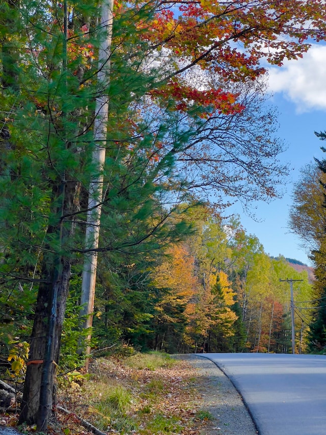
[[[264,65],[323,41],[325,14],[321,0],[1,2],[0,362],[23,385],[19,423],[46,431],[57,375],[115,346],[287,353],[292,309],[295,351],[322,351],[326,163],[289,217],[315,242],[314,283],[228,207],[282,195]]]

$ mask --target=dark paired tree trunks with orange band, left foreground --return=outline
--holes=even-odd
[[[62,197],[60,216],[72,213],[76,206],[78,183],[63,182],[53,187],[53,198]],[[75,225],[59,219],[59,225],[47,233],[58,238],[61,251],[74,236]],[[46,251],[46,249],[45,249]],[[46,256],[42,264],[41,283],[35,310],[19,424],[37,423],[46,432],[55,395],[56,368],[59,364],[62,326],[68,297],[71,257],[69,253]]]

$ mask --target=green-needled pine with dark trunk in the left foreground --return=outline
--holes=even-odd
[[[88,211],[85,192],[90,180],[98,173],[89,156],[98,145],[92,132],[96,115],[94,95],[106,92],[101,89],[102,84],[93,83],[98,69],[93,62],[92,50],[96,52],[102,30],[96,28],[94,20],[91,22],[92,32],[86,32],[88,13],[96,18],[97,5],[90,4],[87,12],[82,4],[75,5],[74,13],[69,15],[67,9],[59,4],[46,4],[37,11],[34,3],[27,3],[22,9],[4,10],[6,18],[10,18],[7,20],[9,23],[17,21],[13,20],[13,14],[19,14],[25,33],[20,28],[16,33],[15,29],[10,29],[14,30],[13,38],[21,41],[22,54],[19,64],[17,62],[17,71],[21,73],[19,93],[17,95],[17,89],[10,86],[3,90],[8,132],[2,153],[1,224],[4,232],[1,272],[5,284],[10,280],[13,286],[31,282],[37,288],[20,422],[37,422],[39,430],[46,430],[59,363],[71,268],[77,273],[80,271],[79,254],[87,251],[82,242]],[[28,37],[22,38],[21,34]],[[134,59],[134,63],[129,62],[125,69],[116,70],[116,82],[123,83],[125,74],[132,75],[133,68],[135,79],[139,62],[139,58]],[[8,82],[9,79],[3,80]],[[155,196],[159,189],[152,181],[156,171],[152,171],[152,178],[144,171],[144,161],[148,163],[150,160],[146,148],[151,144],[144,144],[137,135],[134,138],[122,122],[128,116],[132,118],[130,110],[126,109],[127,96],[132,94],[135,97],[136,91],[147,80],[148,76],[145,81],[134,80],[134,88],[129,87],[129,93],[111,98],[111,103],[121,110],[116,111],[115,119],[108,120],[107,127],[115,132],[112,136],[121,143],[118,141],[120,146],[116,146],[117,141],[114,141],[115,146],[111,148],[111,166],[106,165],[104,181],[112,189],[106,192],[104,200],[108,209],[120,210],[119,217],[132,214],[134,222],[139,222],[141,216],[148,218],[155,210],[142,232],[139,231],[140,225],[133,225],[127,237],[121,237],[118,243],[106,246],[105,250],[132,250],[149,239],[157,247],[157,240],[169,243],[171,238],[177,239],[186,229],[182,220],[176,225],[164,225],[171,210],[163,211],[158,195],[154,199],[148,197]],[[123,103],[120,101],[122,98]],[[131,122],[128,125],[134,129]],[[127,159],[132,155],[130,143],[141,146],[138,154],[133,153],[134,159],[130,159],[137,171],[127,177],[126,173],[114,169],[128,167]],[[162,171],[168,171],[169,167],[170,162],[160,165]],[[126,180],[130,183],[126,184]],[[136,200],[135,191],[146,183],[143,195],[140,200],[138,195]],[[122,194],[133,195],[133,202],[130,200],[127,207],[123,201],[117,201]],[[112,214],[108,215],[107,220],[110,219]],[[119,234],[119,225],[115,228],[114,239]],[[23,289],[28,291],[28,286]]]

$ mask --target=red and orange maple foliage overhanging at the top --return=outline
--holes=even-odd
[[[143,27],[148,49],[157,54],[161,69],[171,79],[165,94],[178,100],[181,109],[186,98],[180,97],[177,84],[183,87],[183,73],[195,65],[226,81],[254,80],[266,72],[263,58],[281,66],[284,59],[302,57],[312,40],[326,36],[323,0],[163,0],[137,2],[137,7],[152,8],[152,19],[138,25]],[[195,88],[187,91],[194,93]],[[188,99],[213,104],[215,109],[221,101],[222,113],[240,110],[232,107],[229,95],[221,100],[221,95],[216,99],[205,91],[197,89]]]

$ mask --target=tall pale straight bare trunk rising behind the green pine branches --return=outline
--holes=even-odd
[[[113,3],[114,0],[103,0],[101,6],[101,28],[105,31],[106,37],[103,39],[99,49],[98,65],[98,89],[104,92],[96,99],[95,121],[94,121],[94,142],[95,150],[92,161],[96,173],[89,187],[89,201],[86,227],[85,248],[88,251],[85,255],[82,296],[80,305],[83,306],[80,316],[87,316],[84,322],[84,328],[91,328],[93,324],[93,309],[95,297],[96,269],[97,269],[97,252],[98,248],[100,219],[101,219],[101,202],[103,193],[103,168],[105,163],[105,145],[106,129],[108,117],[108,95],[107,87],[110,81],[110,57],[112,42],[112,25],[113,25]],[[88,336],[88,341],[91,335]],[[90,351],[87,346],[87,354]],[[86,362],[88,369],[88,359]]]

